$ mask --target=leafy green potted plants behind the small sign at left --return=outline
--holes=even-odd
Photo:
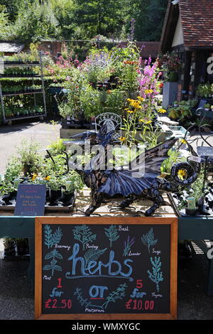
[[[65,189],[67,181],[72,182],[73,190],[82,190],[84,184],[80,175],[76,171],[67,172],[65,154],[59,153],[64,149],[62,140],[58,139],[52,147],[54,163],[51,158],[40,156],[37,142],[23,141],[21,146],[18,146],[18,154],[9,158],[4,181],[0,185],[1,195],[11,193],[14,190],[14,180],[23,176],[28,177],[28,182],[45,184],[51,190]]]

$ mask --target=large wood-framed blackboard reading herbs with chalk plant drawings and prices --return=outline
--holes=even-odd
[[[175,319],[175,217],[36,217],[36,319]]]

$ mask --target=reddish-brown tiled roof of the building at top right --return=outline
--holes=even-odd
[[[213,46],[213,1],[180,0],[185,46]]]

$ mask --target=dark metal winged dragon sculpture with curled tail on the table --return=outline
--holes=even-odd
[[[168,158],[168,151],[178,140],[175,138],[168,139],[163,144],[145,151],[143,157],[139,154],[135,161],[131,163],[131,166],[136,166],[136,169],[129,168],[129,166],[112,170],[97,168],[98,165],[101,166],[101,160],[107,156],[107,145],[111,143],[113,132],[106,133],[106,128],[103,127],[99,132],[86,131],[82,134],[72,136],[72,138],[92,139],[93,144],[99,144],[104,147],[104,154],[102,154],[101,158],[100,156],[94,156],[89,161],[89,168],[87,165],[87,168],[84,170],[77,170],[82,177],[82,181],[88,188],[92,189],[92,203],[85,212],[86,216],[91,215],[99,208],[104,202],[104,198],[112,198],[114,195],[124,196],[124,201],[119,205],[121,209],[129,207],[138,198],[146,198],[153,201],[151,208],[145,212],[146,216],[151,216],[164,203],[162,193],[177,192],[178,186],[190,185],[196,180],[200,172],[200,163],[193,161],[174,164],[171,171],[173,180],[166,181],[164,178],[159,178],[161,174],[160,166]],[[197,156],[192,146],[188,146],[192,155]],[[138,173],[138,170],[140,170],[138,161],[141,161],[141,165],[145,164],[145,170],[143,169],[141,177],[138,177],[138,175],[135,177],[135,173]],[[72,163],[70,167],[72,168]],[[180,170],[185,171],[187,175],[185,180],[179,178],[178,171]]]

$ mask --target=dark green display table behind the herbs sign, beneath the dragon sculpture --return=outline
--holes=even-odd
[[[90,190],[84,190],[83,195],[77,196],[76,208],[84,210],[89,205],[89,192]],[[165,201],[168,203],[169,200],[165,195]],[[112,202],[119,203],[119,200],[114,199]],[[135,211],[131,208],[126,210],[118,210],[113,212],[111,208],[114,208],[116,204],[108,203],[103,205],[101,208],[96,210],[96,213],[101,217],[114,217],[114,216],[124,216],[124,217],[133,217],[136,215],[137,210],[145,211],[150,205],[151,202],[148,200],[141,200],[136,202]],[[72,212],[72,217],[84,216],[80,212]],[[45,216],[55,216],[55,212],[47,212]],[[58,214],[60,217],[70,216],[70,213],[60,212]],[[100,217],[100,219],[101,219]],[[165,205],[161,206],[153,216],[155,217],[176,217],[172,206]],[[34,217],[14,217],[13,212],[0,211],[0,237],[14,237],[14,238],[28,238],[29,247],[31,254],[31,261],[29,265],[29,278],[33,284],[34,279],[34,247],[35,247],[35,231],[34,231]],[[193,240],[197,243],[200,248],[206,252],[207,246],[204,244],[203,240],[209,239],[213,240],[213,217],[178,217],[178,239],[179,240]],[[213,261],[209,259],[209,276],[207,281],[207,294],[213,295]]]

